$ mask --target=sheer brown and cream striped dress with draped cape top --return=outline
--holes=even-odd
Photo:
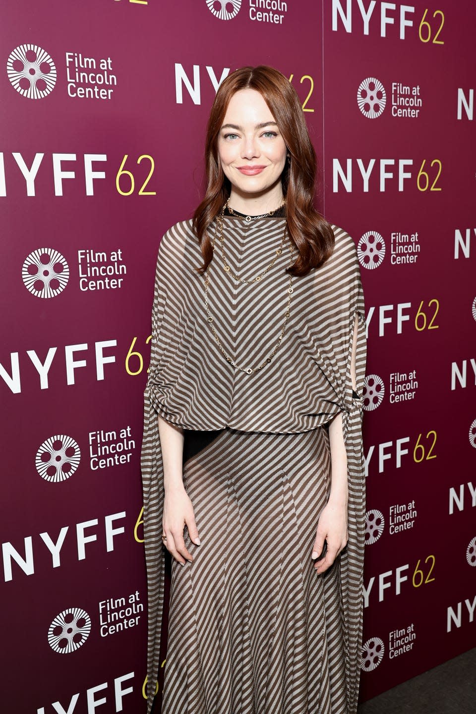
[[[216,226],[213,224],[211,235]],[[226,262],[252,278],[275,256],[285,218],[223,218]],[[350,378],[358,317],[357,393],[365,376],[365,315],[352,239],[333,226],[324,266],[293,278],[290,316],[269,363],[226,361],[205,308],[191,221],[158,249],[151,366],[141,451],[148,573],[148,712],[164,600],[160,414],[184,429],[183,483],[201,545],[172,560],[162,714],[354,714],[362,639],[365,526],[363,402]],[[288,241],[288,238],[286,238]],[[210,265],[208,306],[223,348],[253,368],[285,320],[287,243],[258,283]],[[322,575],[311,551],[330,488],[328,422],[343,414],[348,546]]]

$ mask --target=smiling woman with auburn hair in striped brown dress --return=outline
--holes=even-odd
[[[164,545],[164,714],[352,714],[365,513],[355,246],[313,208],[315,152],[277,70],[223,81],[206,169],[193,221],[158,251],[141,454],[148,681]]]

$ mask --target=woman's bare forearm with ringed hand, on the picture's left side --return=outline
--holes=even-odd
[[[200,545],[193,506],[183,486],[183,428],[166,421],[158,415],[158,436],[161,442],[163,463],[163,517],[162,532],[167,536],[164,542],[167,550],[178,563],[193,560],[186,548],[183,529],[196,545]]]

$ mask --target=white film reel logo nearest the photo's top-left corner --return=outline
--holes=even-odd
[[[29,99],[43,99],[56,84],[54,61],[38,45],[20,45],[11,51],[6,74],[14,89]]]

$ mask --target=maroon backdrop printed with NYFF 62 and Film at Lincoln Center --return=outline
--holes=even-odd
[[[470,0],[6,4],[6,710],[145,710],[139,456],[156,256],[201,200],[208,111],[245,64],[298,91],[320,208],[361,264],[361,700],[474,645],[475,21]]]

